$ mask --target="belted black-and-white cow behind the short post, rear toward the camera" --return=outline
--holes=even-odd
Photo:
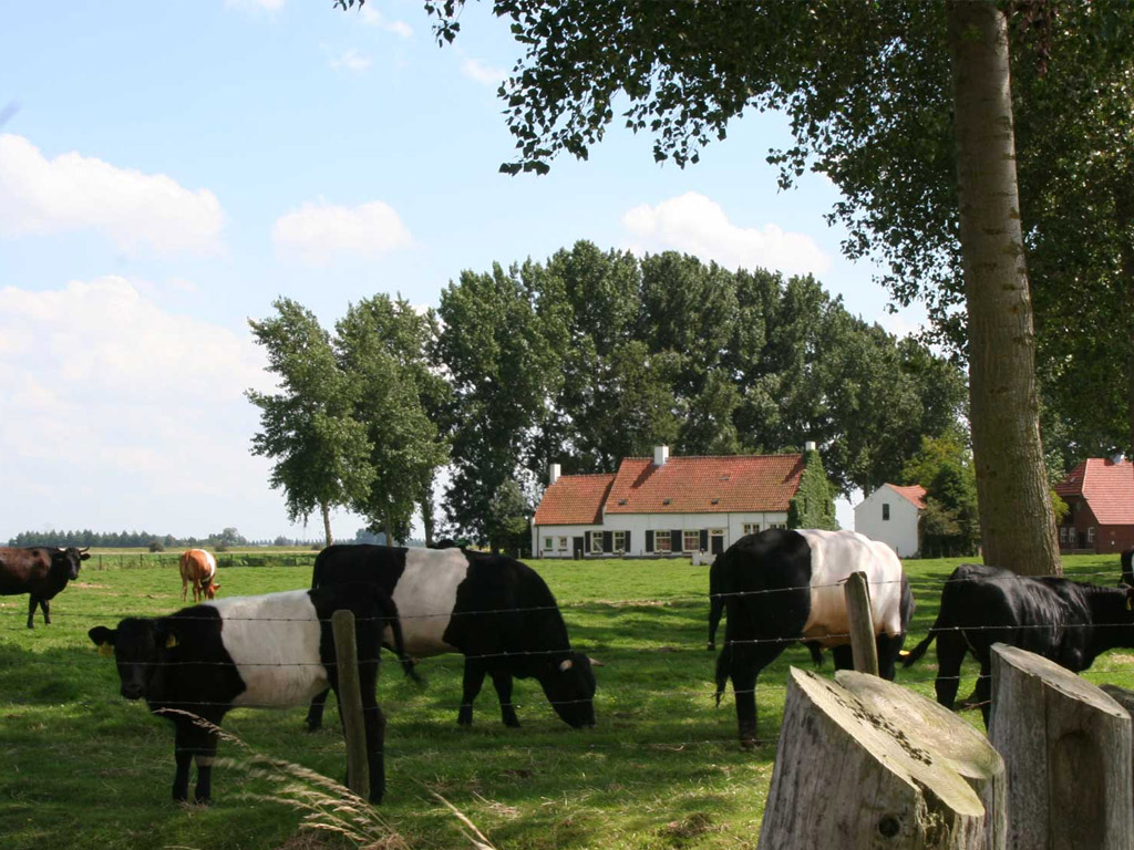
[[[733,680],[741,741],[756,738],[756,678],[788,644],[831,647],[836,669],[853,666],[841,583],[863,571],[870,581],[878,668],[894,678],[914,598],[894,550],[854,532],[770,528],[747,535],[717,558],[728,619],[717,658],[717,703]]]

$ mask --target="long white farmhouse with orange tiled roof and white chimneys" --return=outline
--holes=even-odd
[[[814,443],[807,443],[814,454]],[[746,534],[786,528],[804,454],[624,458],[617,473],[560,475],[532,520],[536,558],[719,554]]]

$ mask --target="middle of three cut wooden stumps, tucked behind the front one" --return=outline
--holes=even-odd
[[[951,767],[984,806],[987,850],[1002,850],[1007,840],[1007,772],[989,739],[945,706],[874,675],[840,670],[835,680],[874,714],[886,717],[906,738]]]

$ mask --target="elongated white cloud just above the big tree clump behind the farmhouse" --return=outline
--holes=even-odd
[[[773,223],[743,228],[720,205],[687,192],[657,206],[643,204],[621,219],[635,253],[679,250],[728,269],[763,267],[787,274],[821,274],[830,258],[805,233],[785,232]]]

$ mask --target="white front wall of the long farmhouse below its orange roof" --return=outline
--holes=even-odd
[[[627,556],[657,554],[645,551],[645,533],[648,530],[697,530],[721,529],[725,532],[725,549],[728,549],[744,536],[745,525],[759,525],[763,530],[771,525],[787,525],[787,513],[779,512],[743,512],[743,513],[610,513],[603,518],[602,525],[578,526],[534,526],[532,528],[532,554],[534,558],[573,558],[572,537],[582,536],[585,532],[629,532],[631,546]],[[556,547],[547,551],[544,541],[552,537]],[[558,549],[559,537],[567,537],[567,550]],[[587,553],[590,554],[590,553]],[[677,553],[675,553],[677,554]]]

